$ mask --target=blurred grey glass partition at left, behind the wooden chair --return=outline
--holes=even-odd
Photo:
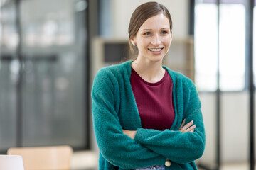
[[[6,98],[0,98],[0,116],[5,116],[0,118],[0,150],[15,147],[16,142],[8,141],[19,136],[23,147],[88,148],[87,7],[84,0],[20,1],[21,60],[15,58],[16,23],[1,15],[0,91]],[[1,11],[11,9],[2,5]],[[21,94],[16,93],[15,76]],[[14,130],[9,133],[4,123]]]

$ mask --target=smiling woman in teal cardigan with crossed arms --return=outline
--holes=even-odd
[[[129,24],[137,59],[100,69],[92,86],[99,169],[197,169],[205,132],[193,82],[162,66],[172,40],[169,11],[139,6]]]

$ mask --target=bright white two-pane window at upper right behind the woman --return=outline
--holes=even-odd
[[[199,91],[215,91],[218,7],[197,4],[195,11],[196,85]],[[221,4],[219,45],[220,90],[241,91],[245,88],[245,6],[242,4]]]

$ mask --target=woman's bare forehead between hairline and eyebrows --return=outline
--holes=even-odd
[[[169,19],[164,16],[163,13],[160,13],[156,16],[152,16],[148,18],[142,26],[139,28],[139,30],[143,29],[157,29],[157,28],[169,28],[170,22]]]

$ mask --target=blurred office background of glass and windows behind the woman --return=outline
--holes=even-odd
[[[0,0],[0,153],[70,145],[97,169],[90,89],[129,60],[129,18],[146,0]],[[201,169],[252,169],[256,28],[250,0],[159,0],[173,19],[164,64],[191,78],[206,128]],[[254,81],[253,81],[253,72]]]

